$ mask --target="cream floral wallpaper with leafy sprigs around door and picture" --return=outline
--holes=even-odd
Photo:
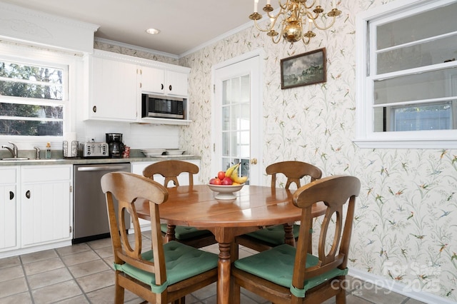
[[[457,151],[361,149],[355,136],[355,19],[390,1],[340,1],[343,15],[308,46],[273,44],[256,29],[241,31],[180,59],[189,66],[191,117],[180,147],[201,155],[211,177],[211,69],[254,49],[265,52],[263,168],[276,161],[313,163],[323,176],[360,178],[350,268],[457,300]],[[247,16],[246,16],[247,20]],[[326,47],[327,82],[281,90],[280,60]],[[265,176],[263,183],[269,185]]]

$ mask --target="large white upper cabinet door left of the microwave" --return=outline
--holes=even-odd
[[[87,60],[91,81],[86,118],[136,121],[139,101],[136,90],[136,64],[123,61],[116,56],[97,54]]]

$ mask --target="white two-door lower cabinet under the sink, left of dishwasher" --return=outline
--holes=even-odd
[[[71,244],[73,166],[14,166],[1,168],[0,252],[33,252]],[[10,176],[4,181],[4,174]],[[16,183],[13,181],[16,176]],[[12,195],[11,193],[14,193]],[[14,197],[9,200],[9,198]],[[9,201],[7,201],[9,200]],[[14,201],[14,207],[11,201]],[[9,204],[8,204],[9,203]],[[7,226],[7,227],[6,227]],[[17,254],[15,253],[15,254]],[[5,256],[6,256],[5,255]],[[0,258],[2,254],[0,253]]]

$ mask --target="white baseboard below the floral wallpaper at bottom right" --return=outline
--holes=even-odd
[[[412,298],[415,300],[419,300],[421,302],[430,303],[430,304],[456,304],[452,300],[448,300],[446,298],[441,298],[438,295],[433,295],[432,293],[427,293],[423,290],[414,290],[408,285],[403,283],[398,283],[395,280],[390,280],[387,278],[383,278],[378,275],[373,275],[371,273],[367,273],[366,271],[361,271],[354,268],[349,268],[348,275],[351,275],[353,278],[360,278],[363,281],[369,282],[373,285],[378,286],[379,288],[385,288],[387,290],[391,290],[394,293],[399,293],[401,295],[405,295],[408,298]]]

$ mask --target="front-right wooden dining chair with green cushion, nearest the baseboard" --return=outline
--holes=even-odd
[[[302,208],[296,248],[283,244],[236,260],[231,268],[234,303],[240,287],[272,303],[322,303],[336,296],[346,303],[347,260],[360,181],[353,176],[330,176],[306,184],[293,194]],[[323,201],[327,210],[321,225],[318,255],[308,253],[311,208]],[[344,211],[346,220],[343,221]],[[238,302],[236,301],[238,298]]]

